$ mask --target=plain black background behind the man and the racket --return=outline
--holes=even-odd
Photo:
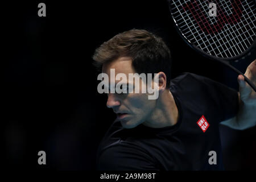
[[[40,2],[46,17],[38,16]],[[92,55],[119,32],[143,28],[161,36],[172,52],[173,78],[192,72],[238,88],[236,73],[180,38],[167,1],[12,1],[1,14],[6,169],[95,169],[98,143],[115,115],[97,93]],[[245,72],[250,61],[232,64]],[[256,169],[255,131],[221,126],[227,170]],[[45,166],[38,164],[40,150]]]

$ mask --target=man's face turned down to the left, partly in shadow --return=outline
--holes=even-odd
[[[127,85],[133,86],[134,81],[129,82],[129,73],[136,73],[131,65],[130,57],[119,57],[119,59],[104,64],[102,72],[109,76],[110,85],[110,69],[115,69],[115,75],[118,73],[124,73],[127,77]],[[120,80],[115,80],[114,84],[117,84]],[[141,89],[145,82],[140,78],[139,93],[109,93],[107,106],[112,108],[117,113],[117,118],[121,121],[121,124],[126,129],[131,129],[146,121],[154,111],[156,106],[156,100],[148,100],[148,94],[142,93]]]

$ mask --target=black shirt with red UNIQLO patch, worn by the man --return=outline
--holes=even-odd
[[[236,90],[192,73],[172,80],[170,90],[179,110],[177,123],[123,129],[114,121],[98,148],[99,170],[224,169],[218,124],[236,115]],[[197,124],[202,116],[204,122]],[[217,164],[209,164],[210,151],[216,152]]]

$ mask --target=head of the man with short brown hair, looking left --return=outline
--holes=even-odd
[[[124,73],[127,78],[129,73],[158,73],[160,92],[170,87],[170,50],[161,38],[146,30],[133,29],[115,35],[96,49],[93,59],[109,77],[110,69],[115,69],[115,75]],[[139,89],[145,84],[140,80]],[[117,113],[123,127],[133,128],[152,117],[157,103],[158,100],[148,100],[148,93],[109,93],[107,106]]]

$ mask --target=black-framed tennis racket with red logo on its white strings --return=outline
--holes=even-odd
[[[168,4],[176,30],[189,46],[243,75],[229,63],[255,51],[255,0],[168,0]]]

